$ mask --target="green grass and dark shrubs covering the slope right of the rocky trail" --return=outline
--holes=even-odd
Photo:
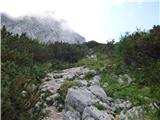
[[[150,119],[158,120],[160,110],[152,110],[149,104],[160,105],[160,26],[126,33],[120,42],[96,46],[92,47],[97,60],[85,58],[79,64],[99,71],[108,95],[144,106]],[[123,77],[126,75],[131,82]]]

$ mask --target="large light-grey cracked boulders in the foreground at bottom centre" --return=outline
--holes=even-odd
[[[64,120],[76,120],[66,119],[68,112],[74,114],[79,113],[80,119],[83,120],[111,120],[113,118],[113,110],[103,102],[106,100],[107,95],[104,90],[97,85],[90,87],[72,87],[68,90],[68,94],[65,100],[65,117]],[[104,110],[96,108],[95,104],[99,103],[104,106]]]

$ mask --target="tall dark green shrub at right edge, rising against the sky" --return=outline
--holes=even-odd
[[[115,46],[117,56],[133,71],[142,85],[160,84],[160,26],[149,32],[126,34]]]

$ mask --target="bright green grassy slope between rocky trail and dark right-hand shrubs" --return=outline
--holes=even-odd
[[[147,82],[146,74],[143,71],[135,71],[134,69],[126,66],[123,60],[117,57],[107,57],[107,55],[100,55],[97,57],[97,61],[91,61],[90,59],[83,59],[79,63],[83,63],[90,69],[94,69],[101,75],[101,86],[104,88],[108,96],[113,98],[122,98],[129,100],[133,105],[149,106],[150,103],[159,103],[160,100],[160,85],[140,84],[144,81]],[[100,68],[104,68],[100,71]],[[127,82],[120,85],[118,83],[118,76],[128,74],[133,79],[132,83],[128,85]],[[148,75],[150,72],[147,73]],[[151,78],[152,76],[150,76]],[[119,112],[119,111],[117,111]],[[158,112],[155,110],[147,111],[146,115],[153,120],[157,120]]]

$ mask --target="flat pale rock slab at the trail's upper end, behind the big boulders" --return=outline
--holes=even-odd
[[[50,91],[55,94],[60,86],[66,81],[66,79],[73,79],[81,74],[86,74],[89,71],[88,68],[75,67],[70,69],[65,69],[59,72],[48,73],[47,77],[43,80],[42,91]],[[75,81],[76,82],[76,81]],[[80,81],[79,81],[80,82]],[[82,84],[87,85],[86,81],[82,81]]]

